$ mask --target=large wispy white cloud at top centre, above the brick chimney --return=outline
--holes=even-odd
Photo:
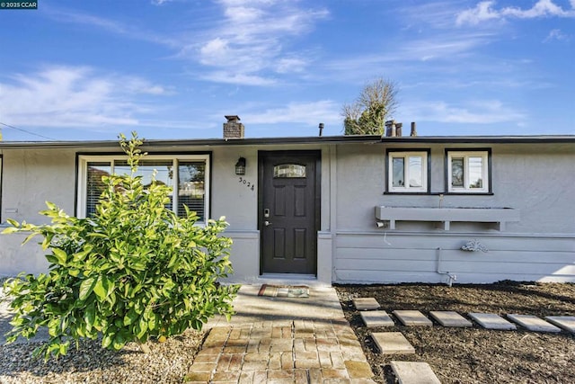
[[[271,85],[270,74],[302,72],[307,62],[285,49],[285,42],[314,27],[328,16],[324,9],[298,8],[295,3],[272,0],[226,0],[224,20],[208,31],[208,39],[181,49],[181,57],[198,59],[213,70],[205,78],[243,85]],[[211,67],[211,68],[210,68]],[[250,79],[253,83],[247,83]]]

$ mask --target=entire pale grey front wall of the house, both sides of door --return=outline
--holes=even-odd
[[[385,148],[429,148],[430,195],[385,194]],[[452,223],[449,231],[433,223],[399,222],[394,231],[376,228],[374,209],[385,206],[438,207],[445,188],[445,148],[491,147],[492,195],[446,195],[444,207],[510,207],[520,220],[504,231],[486,224]],[[575,281],[575,146],[569,144],[350,144],[219,147],[154,147],[150,153],[211,153],[211,217],[226,216],[232,237],[230,281],[261,282],[258,230],[258,150],[322,151],[321,231],[318,277],[323,283],[445,281],[441,268],[457,282],[501,279]],[[33,223],[44,201],[75,211],[76,152],[114,152],[118,148],[3,149],[2,220]],[[243,156],[247,172],[234,174]],[[255,184],[254,189],[247,183]],[[22,235],[0,236],[0,276],[20,271],[42,272],[47,263],[32,241]],[[478,239],[489,254],[466,253],[460,247]]]

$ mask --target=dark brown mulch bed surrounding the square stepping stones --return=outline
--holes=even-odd
[[[490,331],[473,328],[370,328],[363,324],[351,299],[373,297],[389,314],[394,309],[416,309],[429,317],[431,310],[545,316],[575,316],[575,284],[503,281],[487,285],[400,284],[340,285],[335,287],[345,316],[367,355],[379,383],[394,383],[392,360],[428,362],[442,383],[573,383],[575,335],[526,331]],[[370,331],[400,331],[415,354],[377,353]]]

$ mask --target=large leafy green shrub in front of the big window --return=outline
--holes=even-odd
[[[22,273],[4,283],[15,310],[9,343],[46,326],[49,341],[35,355],[48,360],[81,338],[102,336],[102,347],[119,350],[233,314],[238,287],[217,282],[233,272],[232,240],[220,236],[227,223],[221,218],[200,227],[195,212],[186,208],[187,217],[178,218],[168,210],[172,189],[145,187],[135,176],[146,154],[138,148],[142,140],[132,136],[119,139],[132,173],[102,178],[106,189],[92,217],[77,219],[47,202],[40,213],[49,225],[9,219],[12,227],[3,233],[31,232],[24,243],[40,235],[50,251],[49,273]]]

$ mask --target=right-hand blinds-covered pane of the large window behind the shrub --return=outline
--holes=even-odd
[[[196,211],[199,220],[203,221],[206,200],[206,163],[180,162],[178,166],[178,216],[186,214],[183,208],[186,205],[190,210]]]

